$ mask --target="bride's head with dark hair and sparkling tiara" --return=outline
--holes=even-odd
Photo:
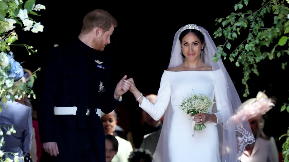
[[[199,57],[205,47],[205,37],[202,30],[192,24],[184,26],[184,30],[180,31],[179,41],[181,43],[182,56],[186,58],[194,59],[195,57],[193,56]]]

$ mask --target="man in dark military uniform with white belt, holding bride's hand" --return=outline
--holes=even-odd
[[[110,85],[110,60],[101,51],[110,43],[117,21],[97,9],[83,19],[78,38],[55,44],[41,69],[38,112],[43,161],[105,162],[101,111],[110,113],[129,89]]]

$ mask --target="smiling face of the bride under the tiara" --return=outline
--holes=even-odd
[[[181,46],[186,59],[192,61],[200,57],[204,45],[194,33],[190,32],[183,37]]]

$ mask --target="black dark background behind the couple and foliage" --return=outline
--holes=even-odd
[[[46,6],[46,10],[37,12],[41,14],[40,17],[32,16],[36,22],[44,25],[44,31],[35,34],[24,32],[20,30],[21,27],[17,27],[19,40],[15,43],[23,42],[32,45],[38,49],[38,52],[29,56],[24,48],[15,48],[14,53],[19,62],[25,61],[23,67],[35,71],[41,67],[42,53],[47,48],[78,36],[82,19],[87,12],[104,9],[118,21],[118,27],[111,36],[111,44],[107,45],[103,51],[103,54],[113,61],[113,81],[116,84],[124,75],[128,75],[129,78],[134,78],[141,92],[157,94],[160,78],[169,63],[175,32],[186,24],[197,24],[208,30],[213,38],[213,32],[220,27],[220,24],[216,25],[215,19],[224,18],[234,12],[234,4],[238,2],[223,0],[76,1],[72,3],[72,1],[36,0],[36,4]],[[261,1],[249,1],[249,6],[251,6],[250,9],[259,9]],[[273,21],[273,19],[267,19],[268,22],[271,20]],[[246,36],[246,33],[243,35]],[[224,40],[220,38],[214,41],[216,46],[224,44]],[[240,40],[236,40],[236,45],[238,42]],[[234,42],[231,44],[234,45]],[[287,132],[289,122],[289,114],[285,111],[280,112],[280,107],[284,103],[289,103],[289,87],[286,79],[288,67],[285,70],[281,68],[284,60],[288,60],[288,55],[274,60],[262,60],[257,64],[260,74],[259,76],[253,73],[250,75],[251,78],[248,81],[250,95],[247,98],[243,97],[245,85],[242,84],[242,67],[236,67],[235,63],[229,62],[228,59],[223,60],[242,102],[256,97],[258,91],[264,90],[269,97],[276,100],[276,106],[264,116],[266,121],[264,132],[276,138],[279,151],[282,149],[285,138],[280,141],[278,138]],[[37,79],[35,84],[37,84]],[[36,91],[37,98],[37,89],[34,91]],[[125,131],[137,129],[142,122],[141,108],[138,107],[138,103],[130,92],[123,95],[123,99],[123,104],[115,109],[119,118],[118,125]]]

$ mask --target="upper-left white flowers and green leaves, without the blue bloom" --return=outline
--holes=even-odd
[[[36,53],[32,46],[27,44],[15,44],[18,40],[18,35],[14,31],[16,26],[21,26],[24,31],[31,31],[33,33],[42,32],[43,25],[40,22],[35,22],[29,14],[38,15],[34,11],[39,11],[45,9],[44,5],[36,4],[35,0],[27,0],[23,7],[22,0],[2,0],[0,1],[0,99],[3,104],[7,102],[8,99],[14,101],[15,99],[20,99],[27,94],[28,96],[33,96],[35,94],[31,89],[34,83],[34,78],[36,78],[36,71],[30,76],[30,81],[25,83],[25,81],[14,82],[14,78],[9,77],[9,70],[11,68],[8,54],[11,53],[10,46],[22,46],[24,47],[28,54]],[[31,29],[31,30],[30,30]],[[9,58],[9,59],[8,59]],[[9,64],[8,64],[9,62]],[[14,61],[13,61],[14,62]],[[3,107],[0,104],[0,113]]]

